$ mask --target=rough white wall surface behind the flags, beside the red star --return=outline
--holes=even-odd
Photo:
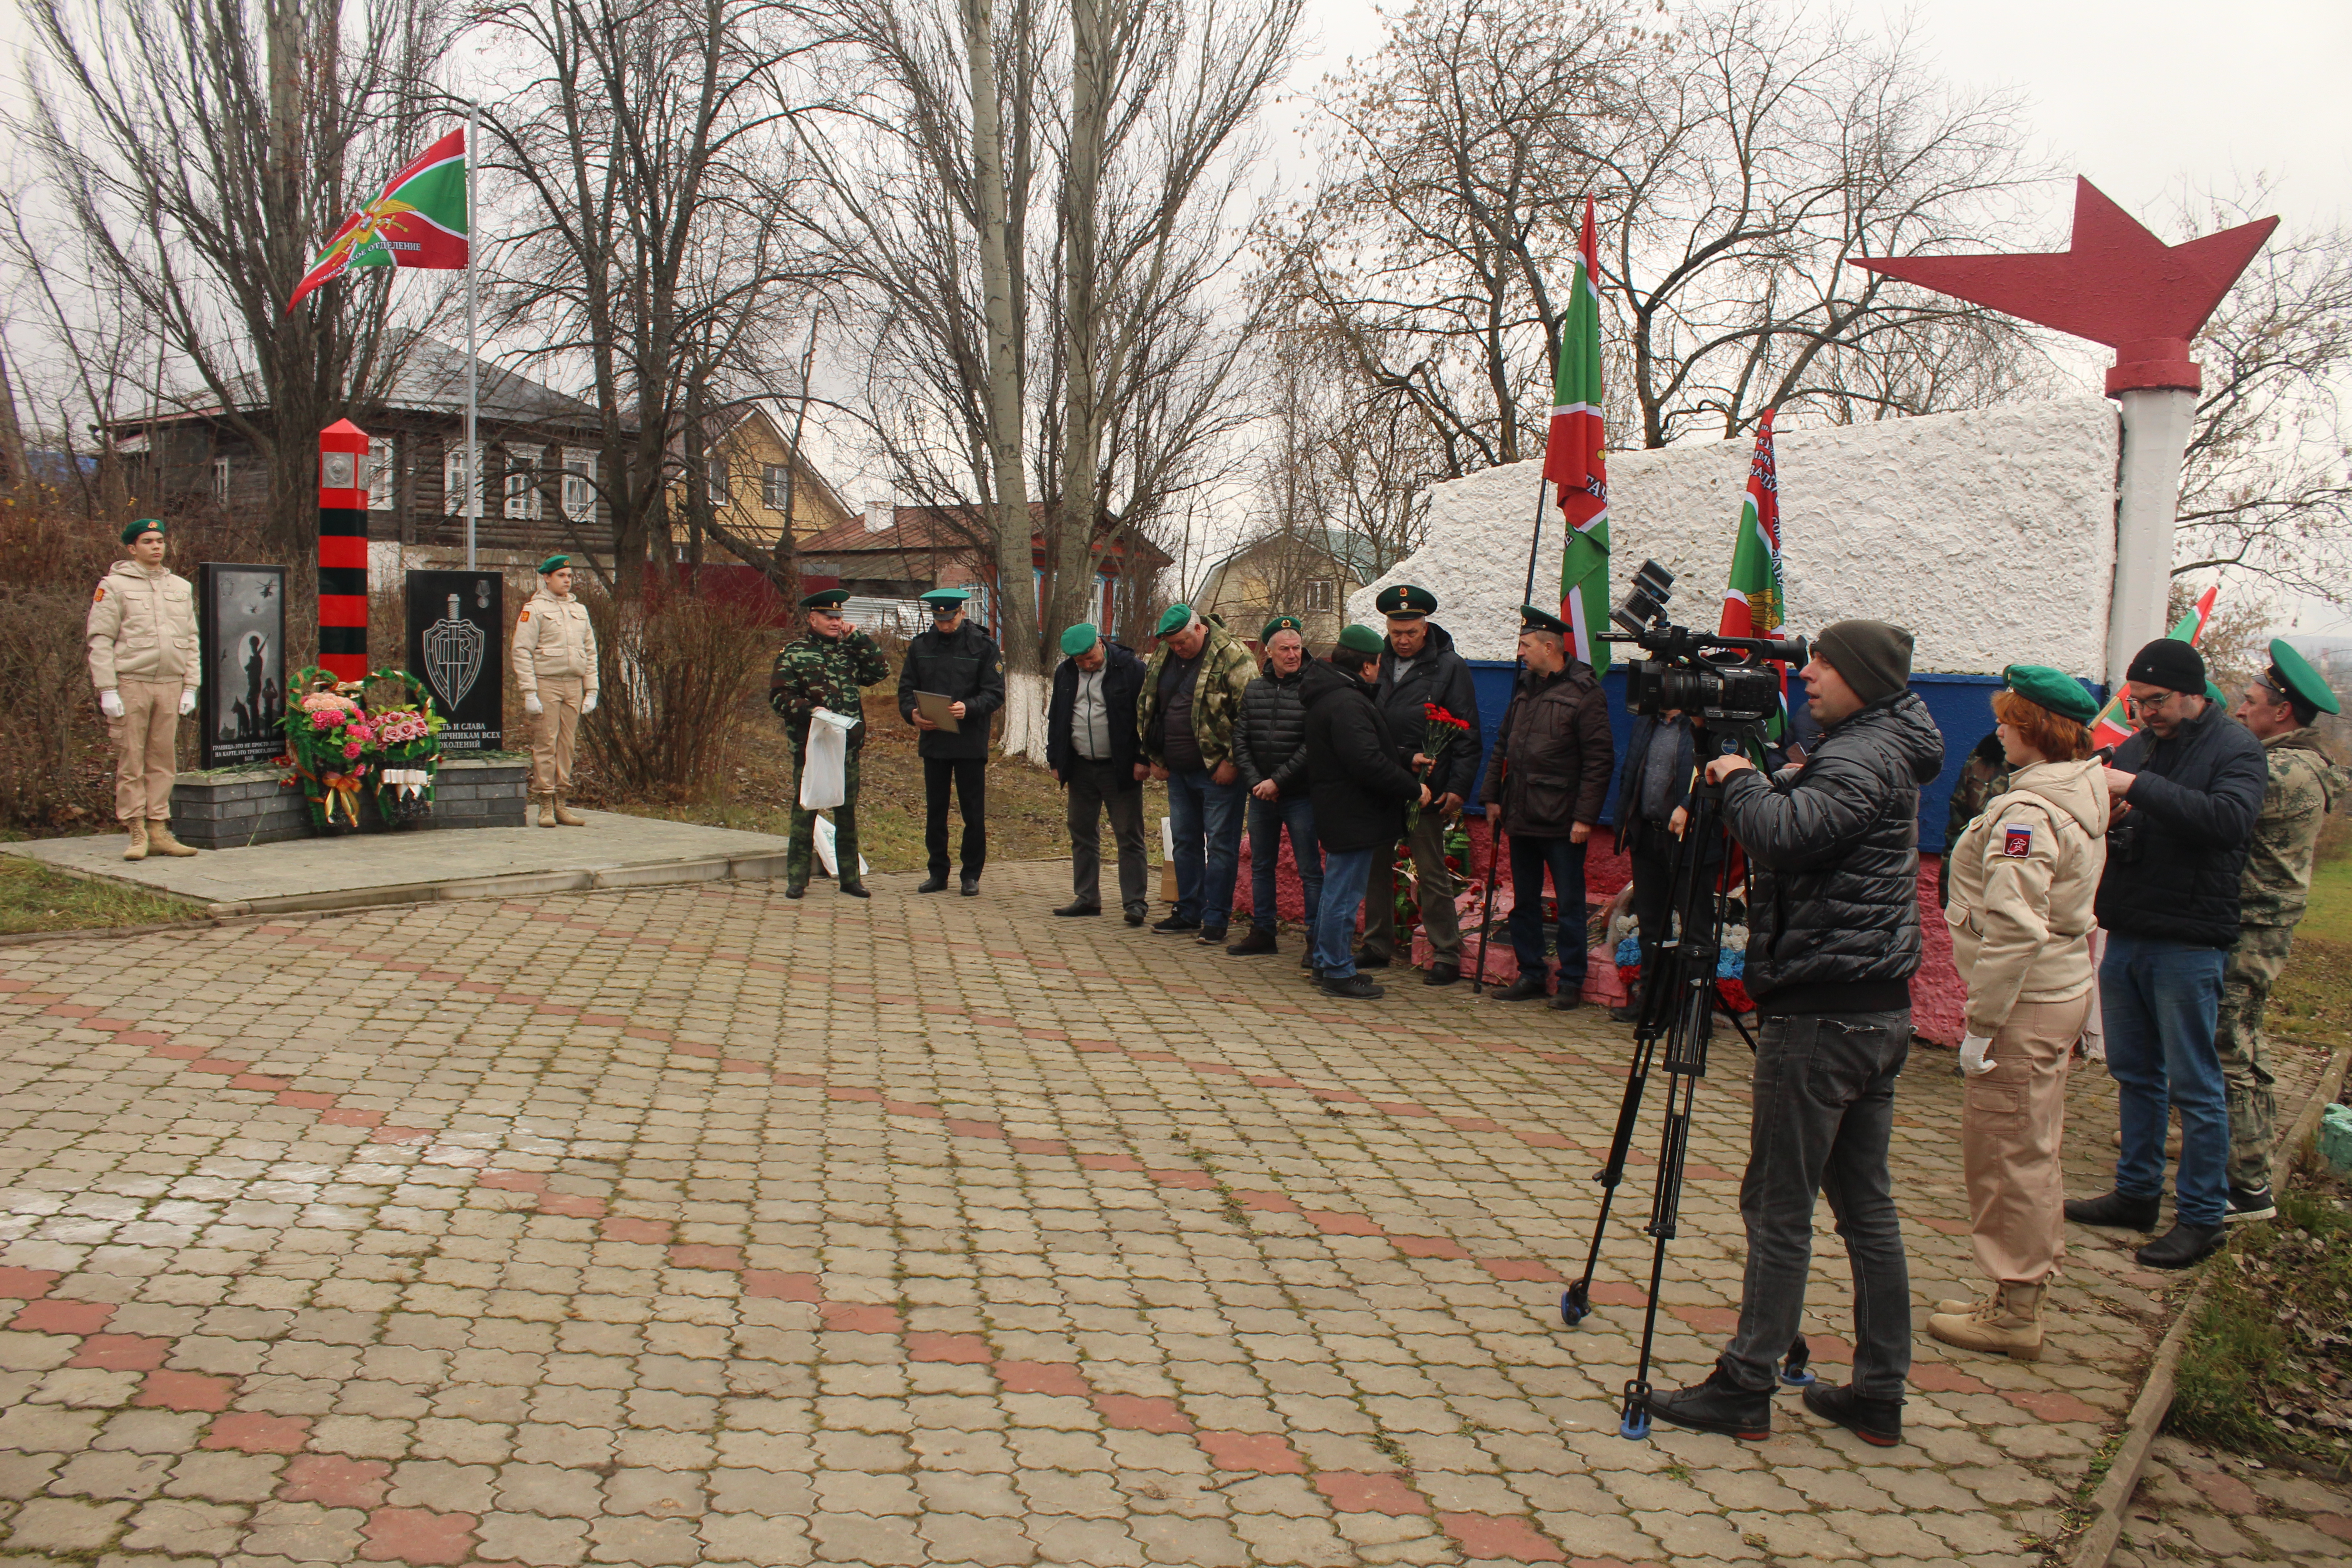
[[[2042,663],[2103,679],[2117,465],[2105,397],[1783,430],[1773,447],[1792,630],[1870,616],[1917,635],[1922,672]],[[1752,451],[1609,454],[1611,602],[1658,557],[1675,571],[1675,618],[1717,623]],[[1421,583],[1468,658],[1510,658],[1541,473],[1512,463],[1437,484],[1428,543],[1350,595],[1348,618],[1376,623],[1374,592]],[[1559,538],[1545,498],[1536,604],[1557,597]]]

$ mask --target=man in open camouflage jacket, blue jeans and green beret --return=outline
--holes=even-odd
[[[1169,785],[1176,907],[1152,926],[1162,936],[1197,931],[1200,943],[1225,945],[1244,799],[1232,731],[1254,675],[1249,644],[1221,623],[1202,621],[1190,604],[1169,604],[1160,616],[1160,646],[1143,670],[1136,705],[1136,780]]]

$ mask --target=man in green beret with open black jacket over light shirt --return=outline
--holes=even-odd
[[[1080,623],[1061,635],[1068,658],[1054,670],[1044,710],[1044,764],[1070,792],[1070,903],[1054,914],[1103,912],[1103,813],[1120,846],[1120,905],[1127,924],[1150,912],[1143,853],[1143,785],[1136,780],[1136,698],[1143,661]]]

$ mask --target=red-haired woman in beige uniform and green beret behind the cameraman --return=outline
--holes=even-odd
[[[1959,1065],[1971,1244],[1992,1281],[1943,1302],[1945,1345],[2042,1359],[2049,1276],[2065,1258],[2065,1074],[2091,1018],[2091,900],[2107,865],[2107,788],[2084,724],[2098,703],[2044,665],[2011,665],[1992,698],[2009,788],[1952,842],[1952,966],[1969,987]]]

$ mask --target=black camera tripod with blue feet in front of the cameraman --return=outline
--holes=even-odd
[[[1755,748],[1762,755],[1764,729],[1755,722],[1715,719],[1698,731],[1719,743],[1715,757],[1729,757]],[[1592,1272],[1602,1260],[1602,1237],[1609,1232],[1609,1208],[1616,1201],[1618,1182],[1625,1178],[1625,1157],[1632,1152],[1635,1121],[1642,1114],[1642,1095],[1649,1074],[1658,1065],[1658,1046],[1665,1046],[1665,1126],[1658,1145],[1658,1180],[1651,1190],[1649,1225],[1644,1234],[1653,1239],[1649,1258],[1649,1305],[1642,1312],[1642,1356],[1625,1382],[1625,1410],[1618,1434],[1642,1441],[1649,1436],[1649,1359],[1658,1335],[1658,1286],[1665,1274],[1665,1244],[1675,1239],[1682,1213],[1682,1166],[1691,1147],[1691,1105],[1698,1098],[1698,1079],[1708,1077],[1708,1044],[1715,1034],[1715,969],[1724,943],[1724,917],[1731,889],[1724,867],[1729,856],[1710,858],[1705,846],[1729,835],[1722,825],[1724,790],[1705,780],[1708,748],[1698,748],[1700,780],[1691,792],[1691,818],[1668,860],[1668,884],[1672,889],[1670,910],[1682,914],[1682,931],[1661,943],[1642,966],[1642,1009],[1635,1025],[1632,1063],[1625,1072],[1625,1100],[1618,1107],[1616,1133],[1609,1140],[1609,1164],[1592,1180],[1602,1187],[1599,1218],[1592,1222],[1592,1248],[1585,1253],[1583,1276],[1559,1298],[1559,1316],[1573,1328],[1592,1312]],[[1700,884],[1708,879],[1712,886]],[[1700,900],[1700,891],[1705,898]],[[1696,919],[1693,919],[1696,917]],[[1733,1027],[1755,1051],[1757,1041],[1736,1013]],[[1806,1371],[1811,1349],[1804,1335],[1790,1345],[1780,1366],[1780,1382],[1804,1387],[1813,1382]]]

